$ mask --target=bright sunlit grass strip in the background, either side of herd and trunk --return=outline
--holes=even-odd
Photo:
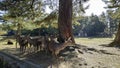
[[[0,37],[0,40],[2,40],[3,38]],[[2,40],[0,41],[0,49],[4,49],[4,48],[15,48],[15,40],[10,39],[13,41],[13,45],[7,45],[7,41],[6,40]],[[82,44],[82,45],[86,45],[86,46],[95,46],[95,45],[100,45],[100,44],[109,44],[110,42],[112,42],[114,40],[114,38],[75,38],[76,43],[78,44]],[[19,45],[18,45],[19,47]]]

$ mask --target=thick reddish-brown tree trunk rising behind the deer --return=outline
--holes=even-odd
[[[65,42],[71,37],[73,43],[74,37],[72,32],[72,0],[59,0],[59,42]]]

